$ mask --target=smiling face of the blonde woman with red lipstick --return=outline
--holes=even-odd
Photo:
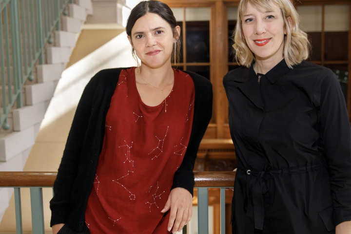
[[[245,41],[259,60],[283,59],[285,22],[281,10],[276,5],[272,8],[272,11],[260,12],[249,3],[242,17]]]

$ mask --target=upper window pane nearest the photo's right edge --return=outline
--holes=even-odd
[[[349,6],[325,6],[326,61],[347,61],[349,51]]]

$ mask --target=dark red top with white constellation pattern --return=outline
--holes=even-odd
[[[190,139],[195,87],[175,70],[171,93],[158,106],[145,105],[135,67],[122,70],[106,116],[105,135],[85,211],[91,234],[166,234],[161,213]]]

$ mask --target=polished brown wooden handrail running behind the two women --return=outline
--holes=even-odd
[[[233,187],[235,171],[194,171],[195,187]],[[0,187],[53,187],[57,172],[0,171]]]

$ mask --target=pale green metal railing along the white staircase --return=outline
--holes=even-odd
[[[44,45],[60,30],[68,3],[73,0],[0,0],[0,127],[8,129],[11,108],[23,106],[22,87],[44,64]]]

